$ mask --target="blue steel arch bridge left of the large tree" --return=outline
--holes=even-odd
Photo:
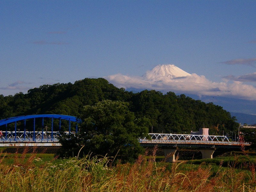
[[[47,131],[47,126],[44,127],[44,120],[49,119],[51,120],[51,127],[49,127]],[[27,121],[32,120],[32,128],[31,126],[27,126]],[[54,120],[59,121],[59,129],[53,128]],[[68,131],[64,132],[65,134],[76,133],[77,126],[81,123],[81,120],[75,116],[68,116],[68,115],[56,115],[56,114],[43,114],[43,115],[26,115],[26,116],[16,116],[11,118],[6,118],[0,120],[0,143],[33,143],[33,142],[41,142],[40,145],[47,145],[45,143],[58,143],[59,137],[61,137],[61,122],[62,120],[68,121]],[[36,129],[36,121],[42,122],[42,128],[38,131]],[[17,129],[17,122],[23,124],[23,129]],[[71,131],[71,122],[75,122],[75,127],[72,128]],[[11,128],[11,131],[8,131],[7,127],[8,124],[14,124],[14,127]],[[30,123],[31,124],[31,123]],[[74,123],[73,123],[74,124]],[[19,126],[20,127],[20,126]],[[46,130],[45,130],[46,128]],[[10,129],[10,128],[9,128]],[[29,130],[29,131],[28,131]],[[38,145],[38,144],[37,144]],[[55,144],[58,145],[58,144]],[[10,145],[13,146],[13,145]]]

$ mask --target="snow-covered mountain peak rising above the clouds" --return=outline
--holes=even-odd
[[[187,73],[186,71],[183,71],[175,65],[157,65],[155,68],[145,73],[142,77],[145,77],[147,79],[169,77],[170,79],[173,79],[175,77],[185,76],[191,76],[191,74]]]

